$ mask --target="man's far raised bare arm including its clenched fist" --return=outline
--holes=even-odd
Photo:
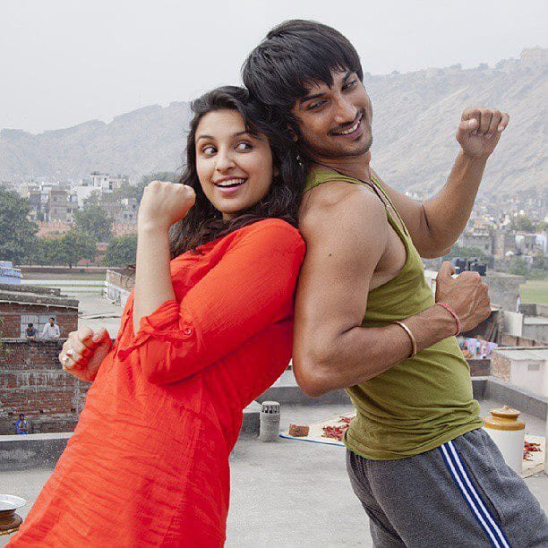
[[[508,114],[498,110],[465,110],[457,133],[462,149],[447,183],[430,200],[423,203],[412,200],[382,183],[422,257],[441,257],[449,252],[467,226],[487,158],[508,123]],[[376,176],[373,171],[372,174]]]

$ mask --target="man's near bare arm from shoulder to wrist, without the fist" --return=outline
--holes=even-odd
[[[307,244],[295,308],[293,364],[309,396],[367,381],[411,353],[398,325],[361,327],[373,273],[390,230],[380,201],[359,187],[322,184],[307,197],[300,229]],[[440,306],[406,321],[418,350],[455,332]]]

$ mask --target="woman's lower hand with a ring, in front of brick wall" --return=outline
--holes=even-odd
[[[69,333],[59,361],[64,371],[81,381],[91,382],[111,347],[112,340],[105,328],[93,332],[88,327],[82,327]]]

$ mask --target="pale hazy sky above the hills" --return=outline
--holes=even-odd
[[[0,128],[109,122],[239,83],[246,54],[292,18],[341,30],[370,73],[548,46],[546,0],[0,0]]]

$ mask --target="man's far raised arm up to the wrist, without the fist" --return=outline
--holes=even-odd
[[[421,257],[441,257],[458,240],[474,207],[486,161],[487,158],[470,158],[460,151],[447,183],[422,203],[382,183]]]

